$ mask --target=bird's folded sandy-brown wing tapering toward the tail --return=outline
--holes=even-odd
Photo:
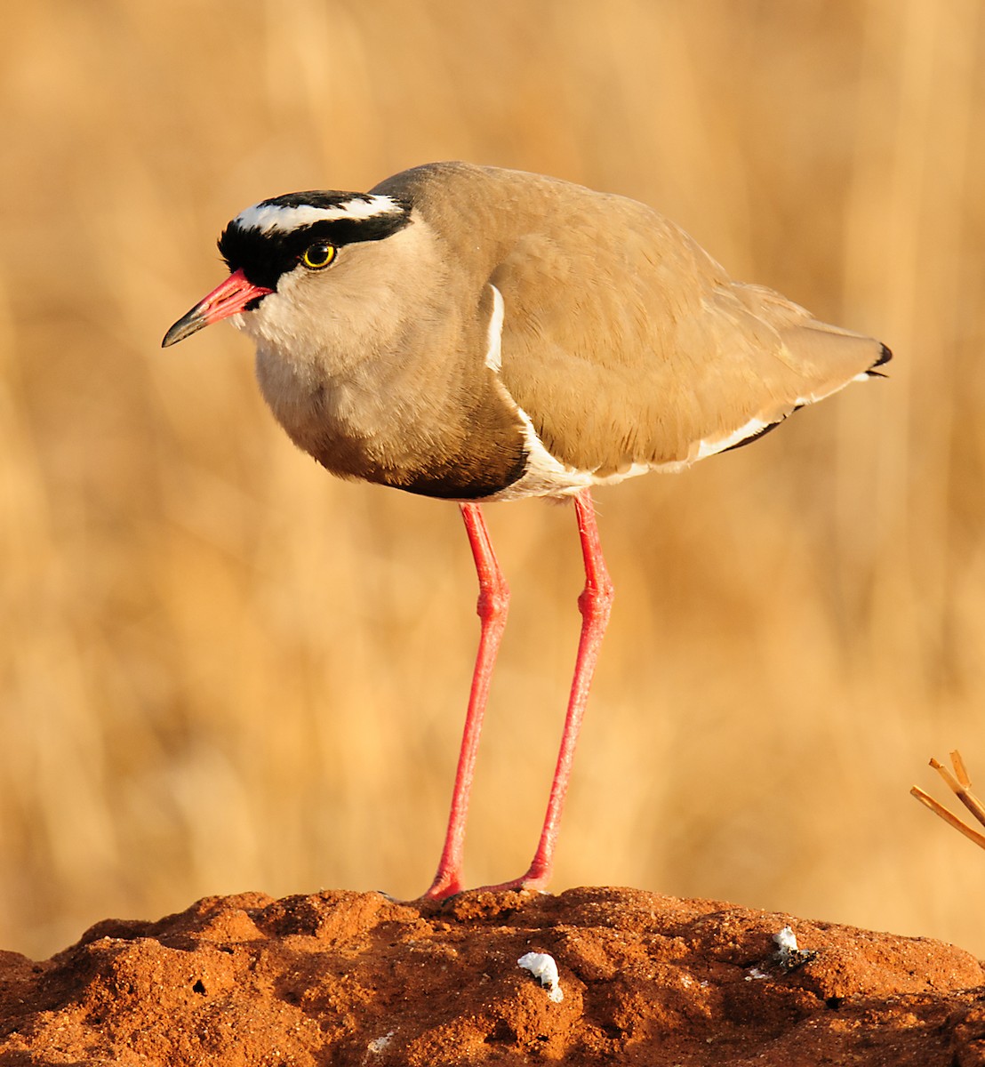
[[[581,200],[567,228],[520,237],[491,278],[503,382],[561,462],[600,475],[689,462],[884,359],[878,341],[731,282],[649,208]]]

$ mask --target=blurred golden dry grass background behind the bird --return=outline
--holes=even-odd
[[[248,341],[164,329],[241,207],[431,159],[657,206],[896,352],[754,447],[598,494],[617,584],[556,887],[985,953],[978,0],[35,0],[4,14],[0,944],[243,889],[423,890],[477,634],[456,509],[337,482]],[[533,849],[577,632],[566,508],[490,509],[514,591],[467,871]]]

